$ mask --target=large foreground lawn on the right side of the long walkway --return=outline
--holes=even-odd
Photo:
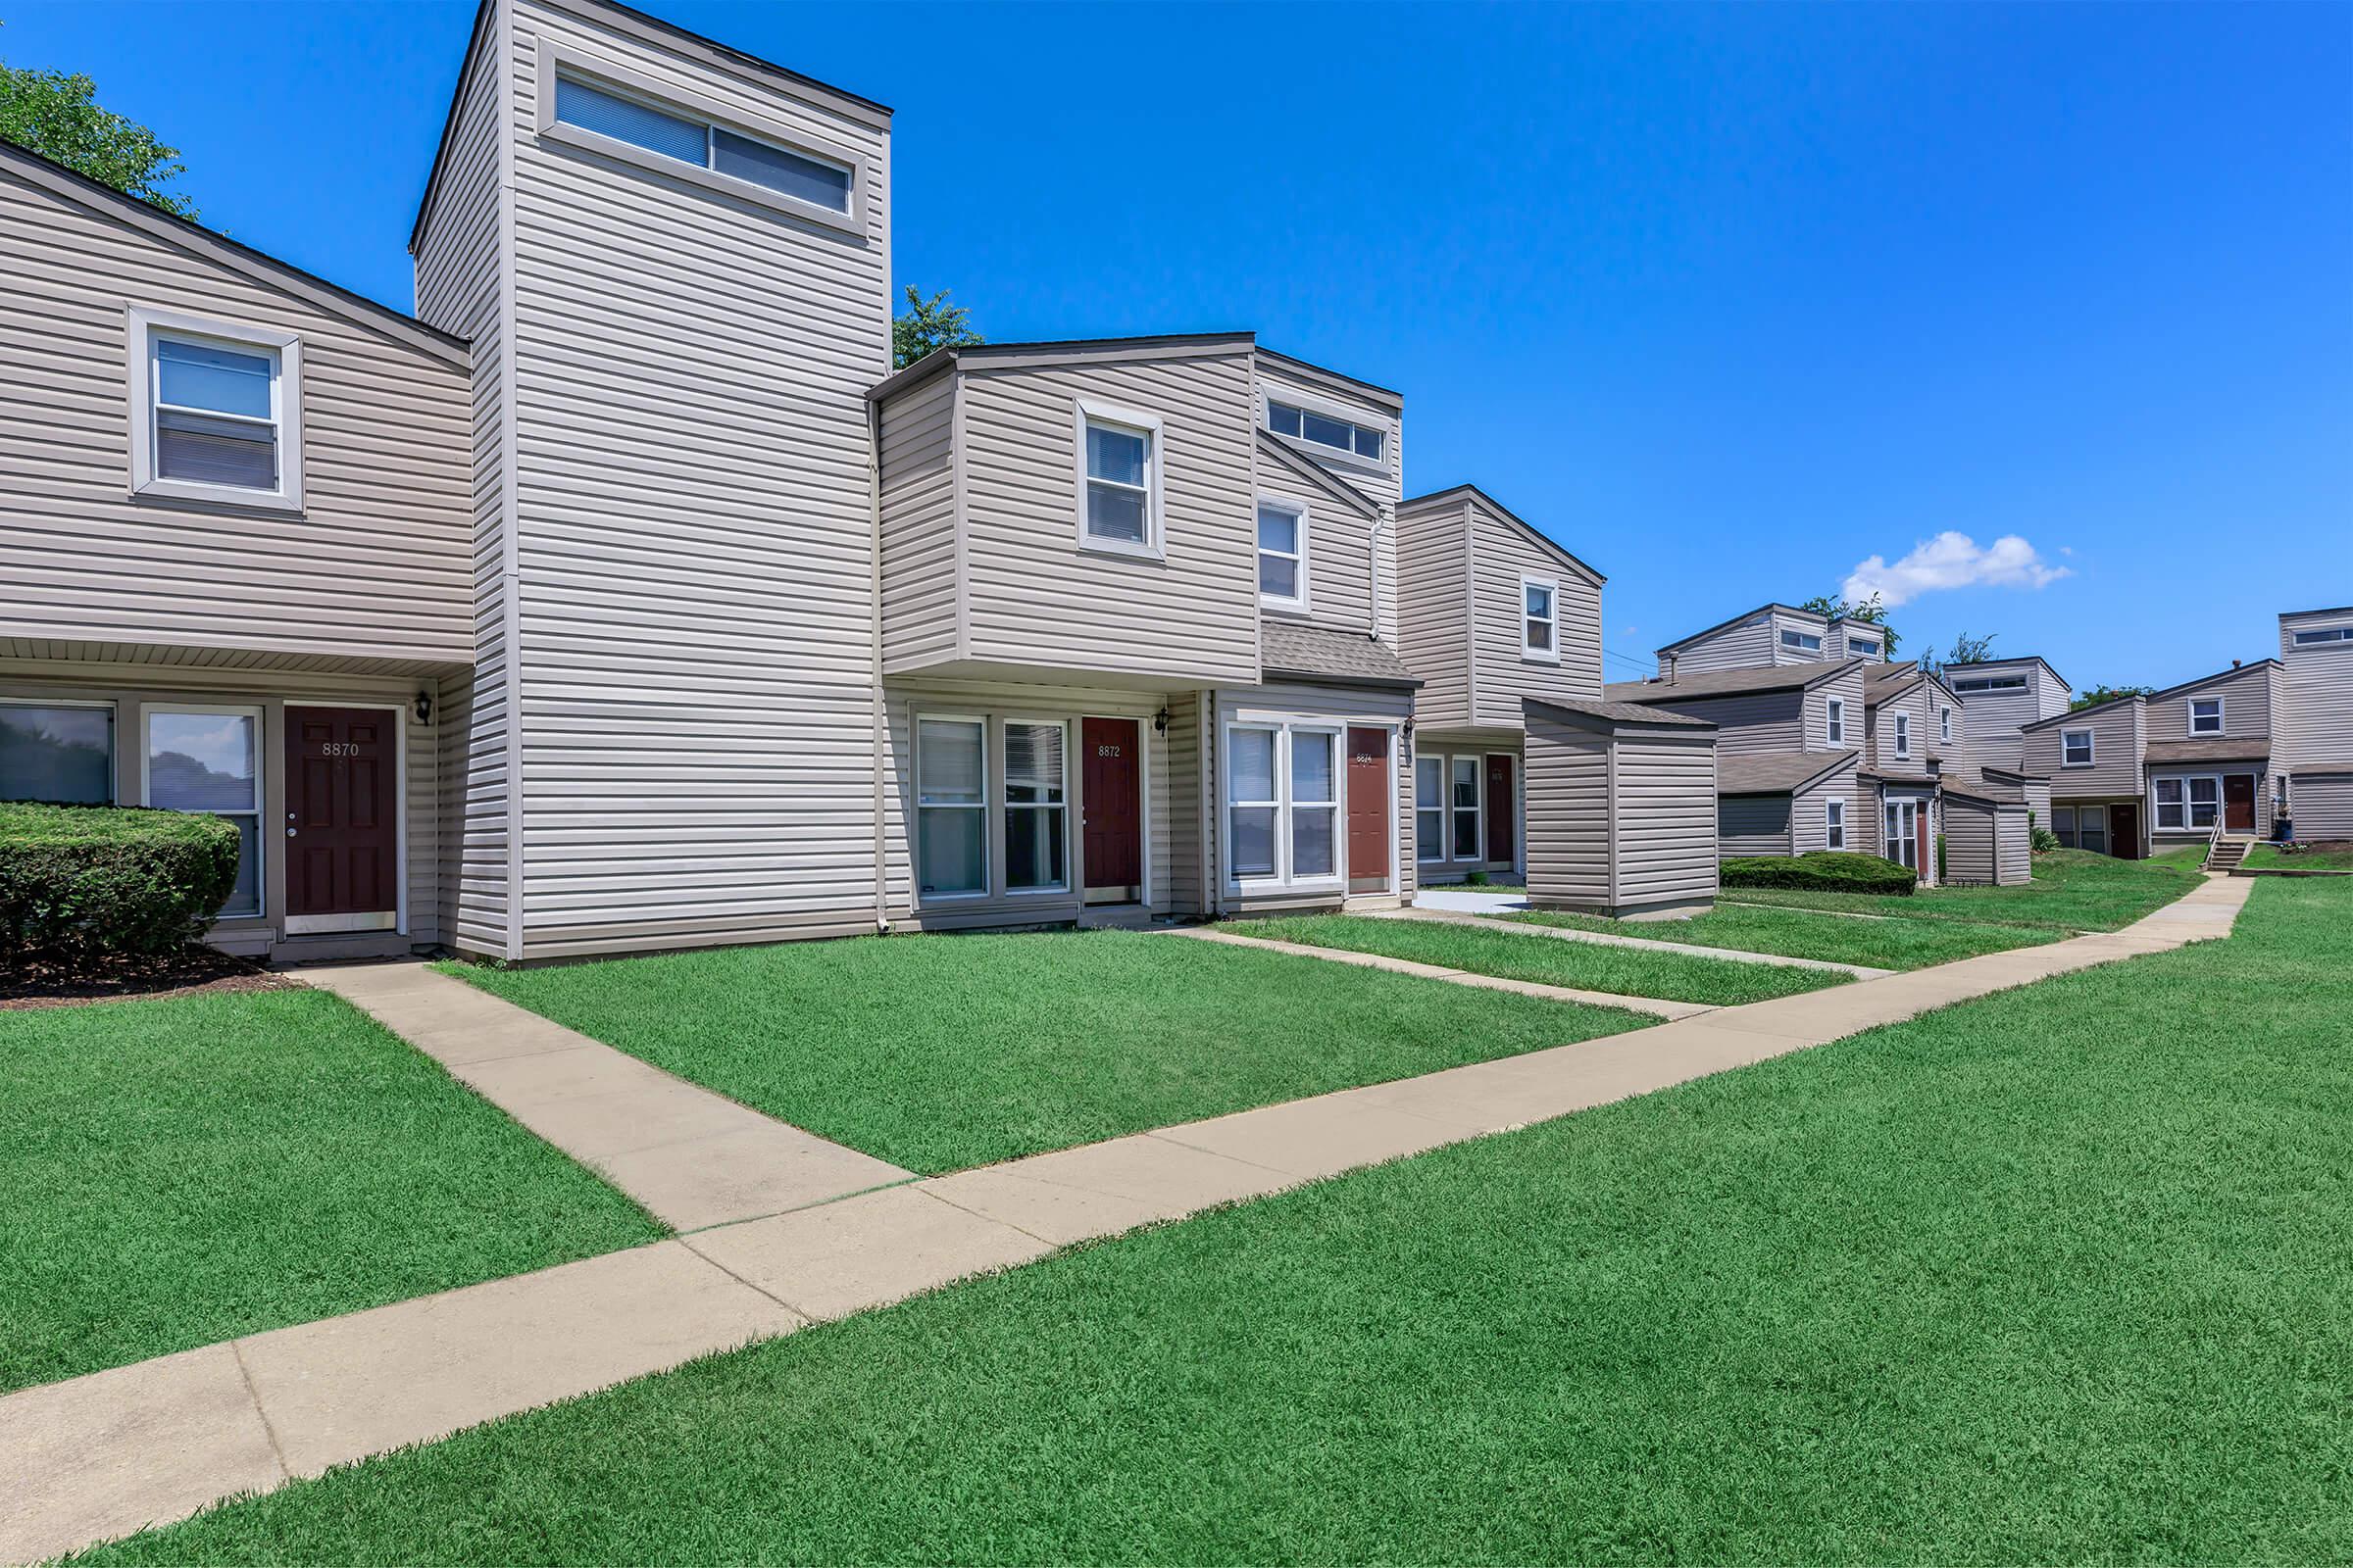
[[[99,1561],[2353,1556],[2353,886]]]

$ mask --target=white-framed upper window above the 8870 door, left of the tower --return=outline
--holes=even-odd
[[[132,491],[301,508],[301,339],[129,313]]]

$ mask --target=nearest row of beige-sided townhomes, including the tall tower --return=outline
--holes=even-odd
[[[892,374],[889,129],[487,0],[414,315],[0,146],[0,797],[233,816],[231,950],[529,961],[1400,903],[1525,863],[1537,712],[1558,799],[1680,790],[1562,898],[1713,891],[1711,731],[1600,701],[1591,564],[1405,496],[1398,393]]]

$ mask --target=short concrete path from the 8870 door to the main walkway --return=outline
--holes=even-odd
[[[751,1220],[913,1178],[424,964],[341,964],[296,976],[438,1060],[671,1229]]]

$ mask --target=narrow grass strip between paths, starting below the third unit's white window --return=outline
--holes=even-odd
[[[1642,952],[1640,947],[1605,947],[1602,943],[1553,943],[1435,919],[1297,914],[1287,919],[1242,919],[1224,929],[1235,936],[1264,936],[1275,943],[1384,952],[1393,959],[1414,959],[1417,964],[1468,969],[1475,976],[1572,985],[1619,997],[1659,997],[1664,1001],[1765,1001],[1767,997],[1788,997],[1793,992],[1849,983],[1849,976],[1821,969],[1694,959],[1680,952]]]

